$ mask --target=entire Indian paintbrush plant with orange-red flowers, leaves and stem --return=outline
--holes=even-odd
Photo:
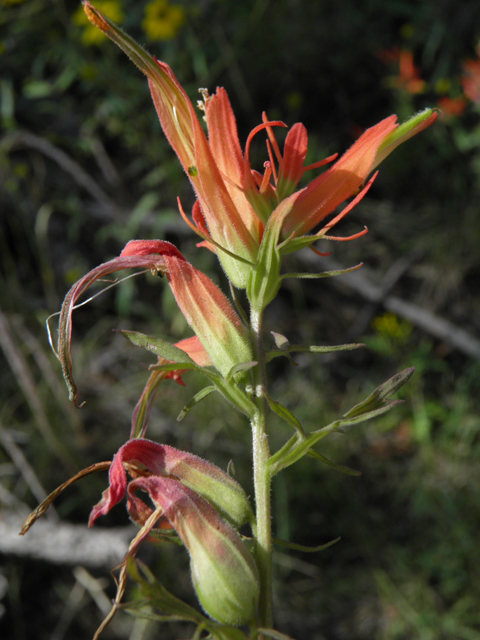
[[[270,121],[264,113],[242,152],[233,109],[223,88],[211,96],[207,90],[201,90],[200,108],[204,112],[207,135],[170,67],[146,53],[89,2],[85,2],[84,7],[91,22],[118,44],[148,77],[161,126],[196,194],[192,219],[179,202],[180,213],[201,237],[201,244],[217,254],[230,283],[246,289],[251,316],[247,328],[248,320],[240,305],[237,305],[239,313],[245,322],[206,275],[187,262],[176,247],[161,240],[132,240],[120,256],[93,269],[77,282],[62,306],[58,343],[58,356],[70,396],[75,401],[77,393],[70,354],[72,312],[78,297],[104,275],[143,267],[165,276],[195,336],[172,345],[160,338],[122,331],[159,359],[150,367],[152,374],[135,408],[131,439],[120,448],[111,464],[98,463],[95,468],[77,474],[72,481],[100,467],[109,467],[109,487],[93,508],[89,524],[108,513],[127,494],[129,515],[141,527],[122,566],[123,577],[113,613],[123,594],[127,565],[138,545],[149,536],[162,536],[162,528],[170,528],[175,529],[189,552],[193,584],[208,615],[222,625],[250,624],[252,637],[257,638],[263,635],[263,626],[272,625],[270,488],[273,476],[307,453],[327,460],[312,447],[341,426],[353,425],[389,410],[396,404],[388,400],[389,396],[412,373],[407,370],[394,376],[341,419],[306,434],[289,409],[268,394],[265,374],[268,358],[262,344],[263,310],[276,296],[284,277],[304,275],[282,275],[284,255],[304,247],[313,249],[313,243],[321,238],[349,240],[366,232],[365,229],[347,238],[329,235],[333,226],[367,193],[377,175],[372,175],[376,167],[399,144],[430,126],[438,114],[427,109],[400,126],[392,115],[365,131],[338,160],[331,156],[306,166],[308,135],[303,124],[296,123],[288,131],[282,153],[274,129],[286,125]],[[250,165],[252,141],[260,132],[267,138],[268,160],[263,174]],[[299,187],[307,171],[333,161],[334,164],[307,186]],[[348,200],[345,208],[336,212],[337,207]],[[325,218],[335,212],[325,224]],[[340,347],[351,346],[358,345]],[[321,352],[322,348],[300,346],[300,350]],[[286,354],[289,355],[288,350]],[[213,367],[216,372],[212,371]],[[168,377],[182,383],[181,375],[188,369],[199,371],[213,385],[202,389],[181,417],[215,390],[251,420],[255,515],[240,485],[218,467],[143,438],[159,383]],[[243,389],[240,382],[247,371],[250,384]],[[267,433],[268,406],[295,429],[295,434],[273,455]],[[130,481],[127,472],[132,478]],[[41,515],[52,496],[68,484],[51,494],[35,517]],[[147,493],[154,508],[137,495],[137,491]],[[237,531],[246,522],[252,527],[255,558]],[[28,526],[30,521],[26,528]],[[186,619],[192,619],[190,614]],[[194,620],[198,621],[196,617]],[[210,633],[205,620],[203,617],[198,623],[196,637],[204,631]],[[242,632],[237,632],[238,637]],[[269,633],[269,629],[265,635],[280,637],[277,632]],[[222,636],[212,632],[210,637]],[[232,637],[228,629],[225,637]]]

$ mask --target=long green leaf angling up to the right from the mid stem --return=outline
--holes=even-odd
[[[298,434],[292,436],[292,438],[269,459],[268,466],[271,476],[274,476],[282,469],[300,460],[317,442],[333,431],[341,427],[365,422],[366,420],[390,411],[390,409],[393,409],[397,404],[401,404],[403,402],[402,400],[389,400],[388,398],[407,382],[413,371],[414,368],[412,367],[397,373],[375,389],[366,400],[352,407],[350,411],[347,411],[339,420],[335,420],[335,422],[318,431],[313,431],[306,438],[301,438]]]

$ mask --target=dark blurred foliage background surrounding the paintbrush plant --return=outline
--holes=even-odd
[[[274,397],[306,430],[401,368],[417,368],[400,394],[405,404],[324,441],[324,455],[361,477],[306,459],[276,480],[277,537],[317,545],[342,536],[320,554],[279,551],[278,628],[297,640],[479,640],[480,106],[462,87],[464,61],[478,60],[478,1],[186,0],[178,3],[184,24],[169,41],[149,40],[142,26],[151,3],[110,4],[123,11],[122,26],[174,68],[192,100],[198,87],[227,88],[242,141],[263,110],[289,125],[302,121],[309,162],[344,151],[391,113],[403,120],[445,98],[464,100],[461,115],[447,114],[382,165],[338,230],[366,224],[369,234],[320,247],[345,267],[362,260],[361,279],[287,281],[267,328],[293,343],[367,344],[335,358],[299,357],[296,368],[272,363]],[[6,546],[16,514],[110,459],[128,436],[148,356],[112,329],[190,335],[168,289],[152,278],[128,280],[78,309],[74,362],[87,404],[77,411],[46,318],[78,277],[131,238],[175,242],[225,284],[176,211],[177,195],[186,210],[193,196],[145,79],[112,43],[92,43],[77,12],[76,2],[61,0],[0,2],[0,633],[15,640],[88,638],[113,594],[109,558],[92,546],[87,559],[81,553],[82,536],[94,535],[86,521],[105,474],[58,501],[59,519],[50,518],[44,538],[60,549],[61,523],[79,527],[56,564],[40,542],[28,552],[26,539]],[[421,92],[411,93],[395,50],[413,53]],[[260,168],[260,137],[253,153]],[[327,259],[312,263],[306,254],[289,267],[328,268]],[[165,383],[150,437],[224,468],[232,459],[251,490],[249,432],[239,415],[210,396],[175,421],[202,386],[194,375],[186,381],[186,389]],[[272,429],[275,447],[288,431],[274,420]],[[126,524],[118,507],[98,527]],[[194,601],[181,550],[146,553],[167,587]],[[104,637],[191,634],[123,615]]]

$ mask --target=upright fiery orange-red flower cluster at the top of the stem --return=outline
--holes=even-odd
[[[180,213],[201,236],[202,244],[217,253],[227,276],[240,288],[249,286],[252,270],[260,268],[265,273],[270,270],[269,265],[259,264],[265,226],[270,218],[274,219],[278,230],[278,234],[275,232],[277,244],[283,243],[282,253],[309,246],[321,237],[337,239],[326,234],[342,216],[337,216],[316,235],[300,241],[338,205],[356,196],[371,172],[396,146],[430,126],[438,117],[436,112],[427,109],[400,127],[396,124],[396,116],[386,118],[368,129],[330,169],[295,192],[306,171],[335,158],[304,165],[308,137],[301,123],[288,132],[282,156],[273,127],[286,125],[269,121],[263,114],[263,122],[249,135],[243,154],[227,92],[218,88],[209,96],[202,90],[200,106],[205,114],[207,139],[192,103],[171,68],[144,51],[89,2],[85,2],[84,7],[88,18],[148,77],[162,128],[197,196],[192,211],[193,222],[179,203]],[[269,155],[263,175],[252,171],[249,160],[252,139],[262,130],[267,133]],[[362,194],[369,186],[370,183]],[[295,201],[289,203],[286,212],[282,203],[294,194]],[[347,207],[343,215],[351,208]],[[271,251],[263,252],[264,259],[267,254]],[[276,277],[276,271],[269,272],[270,280]]]

